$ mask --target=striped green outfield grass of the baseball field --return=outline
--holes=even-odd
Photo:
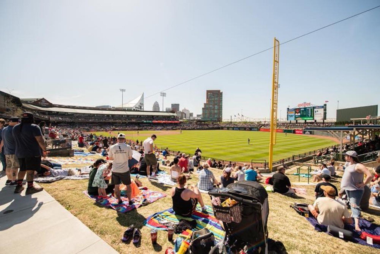
[[[120,131],[121,132],[121,131]],[[109,136],[106,132],[95,132],[97,135]],[[196,147],[202,150],[205,157],[231,161],[251,161],[252,159],[268,160],[269,133],[262,131],[123,131],[128,139],[139,141],[151,134],[156,134],[154,142],[158,147],[168,147],[170,150],[181,151],[193,155]],[[117,132],[112,132],[117,136]],[[248,138],[250,145],[248,145]],[[274,160],[290,157],[293,154],[309,152],[331,146],[336,142],[321,137],[277,133],[277,144],[274,148]]]

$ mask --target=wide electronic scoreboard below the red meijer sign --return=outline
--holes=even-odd
[[[326,120],[326,104],[323,106],[287,109],[287,120]]]

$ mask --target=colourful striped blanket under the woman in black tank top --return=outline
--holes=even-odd
[[[207,206],[207,211],[203,212],[199,204],[197,204],[196,211],[193,212],[190,218],[176,215],[173,211],[173,208],[169,208],[165,211],[157,212],[151,216],[148,216],[144,221],[144,225],[150,228],[156,228],[158,230],[167,230],[168,227],[166,227],[163,224],[160,224],[161,222],[165,221],[176,224],[179,222],[180,219],[196,220],[195,230],[208,228],[210,232],[212,232],[215,236],[215,244],[218,243],[220,240],[224,239],[225,237],[226,232],[219,224],[219,221],[214,217],[214,212],[211,206]]]

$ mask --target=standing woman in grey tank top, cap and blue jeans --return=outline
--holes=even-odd
[[[347,151],[344,155],[347,163],[340,182],[340,188],[345,190],[347,198],[350,200],[352,217],[355,220],[355,230],[361,231],[359,227],[360,201],[364,194],[364,186],[370,183],[373,176],[366,166],[360,163],[358,153]],[[364,174],[367,176],[366,179],[364,179]]]

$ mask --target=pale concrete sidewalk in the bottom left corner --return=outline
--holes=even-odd
[[[118,253],[46,191],[25,195],[0,178],[0,253]]]

